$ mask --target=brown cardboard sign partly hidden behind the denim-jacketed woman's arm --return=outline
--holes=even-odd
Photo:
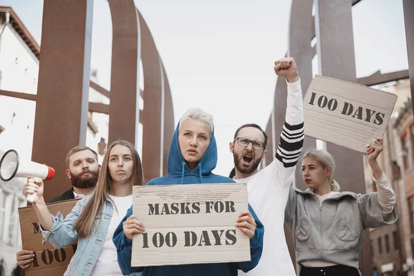
[[[60,212],[63,217],[66,217],[78,200],[73,199],[48,204],[48,208],[52,215]],[[19,220],[22,248],[32,250],[36,255],[33,265],[26,270],[26,276],[63,275],[70,259],[75,254],[77,244],[70,244],[70,246],[59,249],[55,249],[49,242],[42,245],[39,219],[32,206],[19,208]]]

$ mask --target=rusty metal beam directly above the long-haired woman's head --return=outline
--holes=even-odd
[[[109,137],[137,146],[139,25],[133,0],[108,0],[112,19]]]

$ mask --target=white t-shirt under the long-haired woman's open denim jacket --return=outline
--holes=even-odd
[[[112,236],[121,220],[125,217],[126,211],[132,205],[132,195],[128,195],[127,197],[114,197],[113,195],[109,195],[109,197],[114,201],[117,208],[114,208],[114,212],[112,213],[105,242],[103,242],[101,253],[92,273],[90,273],[91,276],[122,275],[121,268],[119,268],[118,264],[117,248],[112,242]]]

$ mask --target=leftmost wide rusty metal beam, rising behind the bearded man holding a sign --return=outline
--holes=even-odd
[[[65,158],[86,144],[93,0],[44,0],[32,159],[56,170],[46,201],[72,187]]]

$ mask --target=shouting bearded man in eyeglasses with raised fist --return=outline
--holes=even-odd
[[[304,141],[302,89],[293,58],[276,61],[275,73],[285,77],[288,85],[286,121],[275,160],[258,170],[260,161],[267,154],[268,137],[257,124],[239,127],[230,142],[230,152],[235,161],[233,179],[247,184],[248,201],[266,227],[259,264],[248,273],[239,270],[239,275],[296,275],[284,235],[284,210]]]

